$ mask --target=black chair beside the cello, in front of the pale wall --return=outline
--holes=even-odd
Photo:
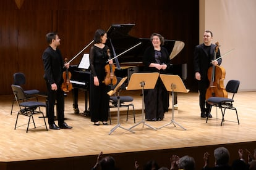
[[[238,80],[228,81],[228,84],[226,85],[226,91],[229,93],[233,93],[231,99],[226,98],[226,97],[210,97],[207,100],[207,102],[210,104],[210,111],[207,115],[210,115],[212,107],[219,107],[221,109],[221,114],[222,114],[221,126],[224,121],[224,115],[225,115],[226,109],[236,110],[236,108],[233,107],[233,102],[234,102],[234,95],[238,91],[239,84],[240,84],[240,81],[238,81]],[[224,111],[223,111],[223,108],[224,108]],[[239,124],[237,110],[236,110],[236,117],[237,117],[237,123]],[[207,121],[208,121],[208,116],[207,116]],[[207,123],[207,121],[206,121],[206,123]]]

